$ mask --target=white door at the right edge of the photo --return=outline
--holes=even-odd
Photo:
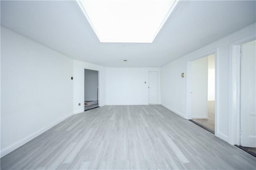
[[[240,122],[241,145],[256,147],[256,51],[255,43],[242,45],[240,79]]]

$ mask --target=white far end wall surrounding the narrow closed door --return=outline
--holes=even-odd
[[[148,71],[158,71],[160,103],[160,68],[106,68],[106,105],[147,105]]]

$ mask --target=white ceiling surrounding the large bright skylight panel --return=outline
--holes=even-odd
[[[161,67],[253,24],[255,11],[256,1],[182,1],[153,43],[101,43],[73,1],[1,0],[1,25],[80,61]]]

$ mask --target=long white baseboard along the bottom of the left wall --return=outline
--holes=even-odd
[[[2,149],[2,150],[1,150],[1,153],[0,153],[1,158],[2,158],[3,156],[5,156],[6,154],[12,152],[13,150],[17,149],[18,147],[20,147],[20,146],[24,145],[25,143],[29,142],[30,140],[34,139],[36,136],[39,136],[40,134],[42,134],[42,133],[45,132],[46,130],[49,130],[50,128],[52,128],[52,127],[54,127],[55,125],[59,124],[60,122],[64,121],[65,119],[67,119],[68,117],[70,117],[70,116],[72,116],[72,115],[73,115],[73,113],[70,113],[70,114],[68,114],[68,115],[66,115],[66,116],[64,116],[64,117],[62,117],[62,118],[59,119],[58,121],[56,121],[56,122],[54,122],[54,123],[52,123],[52,124],[50,124],[50,125],[48,125],[48,126],[42,128],[42,129],[40,129],[40,130],[38,130],[38,131],[36,131],[36,132],[30,134],[29,136],[23,138],[22,140],[20,140],[20,141],[14,143],[14,144],[8,146],[7,148]]]

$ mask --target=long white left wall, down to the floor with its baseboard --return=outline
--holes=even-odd
[[[73,60],[1,27],[1,156],[73,114]]]

